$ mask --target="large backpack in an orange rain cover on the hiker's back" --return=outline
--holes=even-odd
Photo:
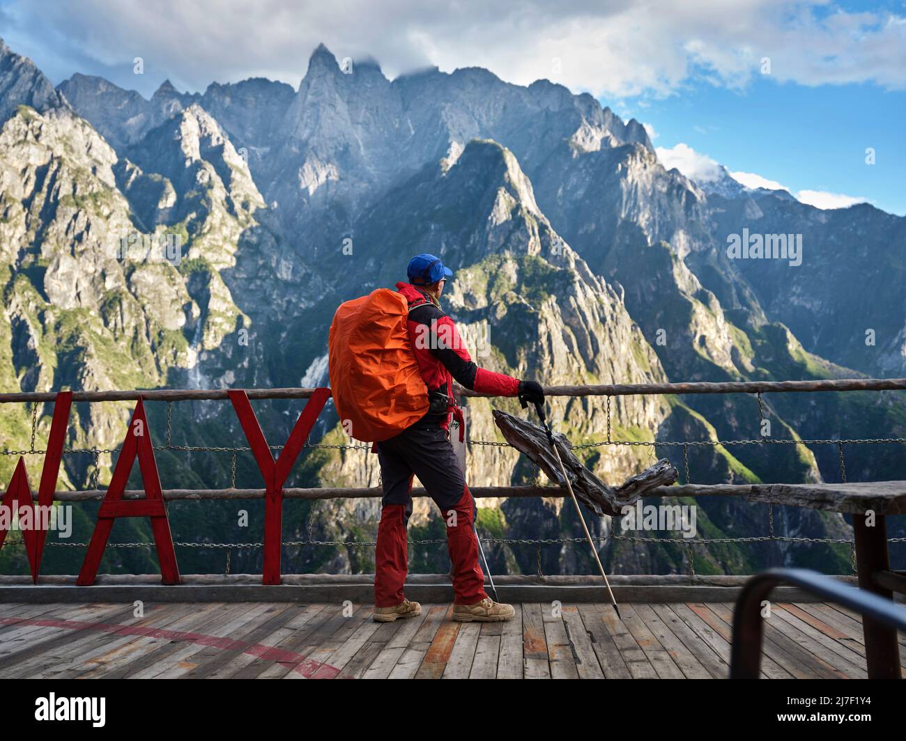
[[[389,288],[341,303],[333,314],[328,374],[333,404],[351,438],[392,438],[429,409],[408,317],[406,298]]]

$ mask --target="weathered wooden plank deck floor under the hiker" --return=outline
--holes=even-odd
[[[448,604],[379,624],[371,605],[294,602],[0,604],[0,678],[726,678],[733,605],[516,606],[505,623]],[[350,614],[352,613],[352,614]],[[781,603],[765,678],[865,678],[859,616]],[[906,656],[902,634],[901,656]],[[906,666],[906,664],[904,664]]]

